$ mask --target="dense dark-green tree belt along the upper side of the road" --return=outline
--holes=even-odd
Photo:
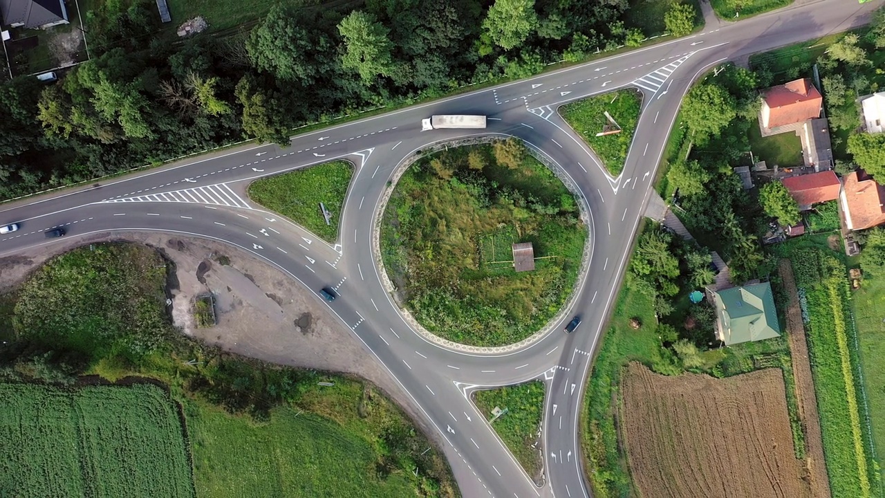
[[[84,16],[92,59],[59,82],[0,87],[0,198],[642,40],[627,0],[368,0],[358,11],[277,5],[249,32],[180,40],[149,0]]]

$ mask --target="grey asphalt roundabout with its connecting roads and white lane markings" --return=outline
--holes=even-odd
[[[164,230],[211,237],[254,253],[312,292],[328,285],[340,293],[328,304],[439,431],[464,496],[589,496],[578,438],[583,387],[681,97],[712,66],[856,27],[879,5],[804,2],[528,80],[296,136],[284,150],[263,145],[216,153],[8,203],[0,207],[0,222],[19,222],[21,228],[0,237],[0,256],[52,244],[42,232],[55,226],[64,226],[67,237]],[[643,91],[643,114],[624,171],[612,178],[556,109],[624,87]],[[489,128],[422,132],[421,119],[435,113],[485,114]],[[564,322],[518,351],[452,350],[412,331],[381,285],[370,234],[394,168],[428,144],[476,135],[519,136],[569,175],[586,199],[592,256],[565,319],[581,315],[583,323],[573,334],[562,332]],[[337,158],[353,161],[357,171],[334,246],[256,209],[244,195],[252,179]],[[469,401],[474,389],[532,378],[548,387],[543,487],[531,482]]]

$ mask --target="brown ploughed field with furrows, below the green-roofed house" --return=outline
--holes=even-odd
[[[781,370],[665,377],[634,362],[622,382],[621,430],[643,497],[812,496]]]

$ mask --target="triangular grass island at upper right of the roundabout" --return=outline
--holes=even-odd
[[[617,176],[624,169],[642,103],[640,93],[635,89],[620,89],[563,105],[559,108],[559,113],[593,152],[596,152],[608,172]],[[620,126],[621,131],[596,136],[597,133],[610,129],[611,123],[605,117],[606,112]]]

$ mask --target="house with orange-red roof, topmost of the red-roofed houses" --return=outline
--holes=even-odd
[[[820,117],[824,98],[808,78],[767,89],[762,97],[762,128],[778,128]]]

